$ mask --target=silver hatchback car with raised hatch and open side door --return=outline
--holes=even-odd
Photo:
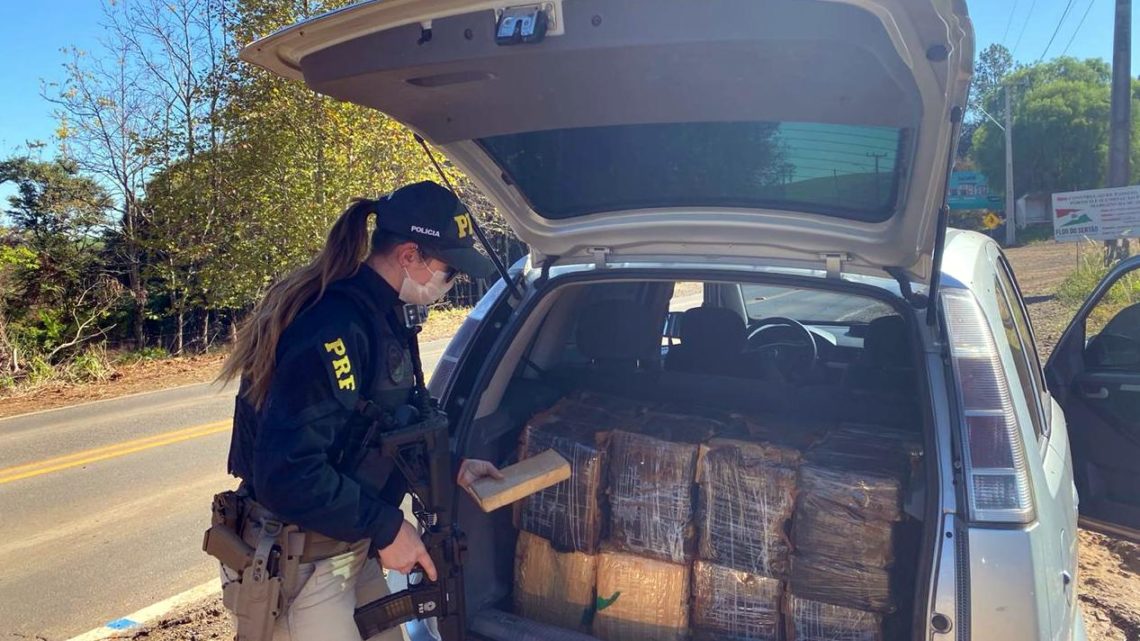
[[[972,49],[960,0],[388,0],[243,58],[407,124],[529,245],[434,372],[458,454],[576,389],[910,430],[886,635],[1083,640],[1078,503],[1140,530],[1140,261],[1043,368],[999,246],[947,229]],[[508,511],[458,510],[471,638],[562,638],[504,614]]]

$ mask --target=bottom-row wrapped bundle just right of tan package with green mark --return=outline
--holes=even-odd
[[[693,632],[715,641],[779,641],[783,582],[708,561],[693,563]]]

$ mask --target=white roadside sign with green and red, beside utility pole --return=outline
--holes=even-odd
[[[1140,185],[1053,194],[1053,237],[1110,241],[1140,236]]]

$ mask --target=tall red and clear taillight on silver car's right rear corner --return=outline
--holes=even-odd
[[[942,302],[960,390],[970,518],[1032,522],[1025,440],[990,323],[968,291],[943,290]]]

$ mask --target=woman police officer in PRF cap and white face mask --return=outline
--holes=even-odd
[[[440,300],[459,271],[491,274],[472,232],[458,198],[434,182],[356,201],[319,255],[270,287],[238,334],[221,379],[241,379],[229,471],[243,480],[255,508],[247,520],[256,521],[243,536],[255,545],[249,533],[270,516],[304,533],[275,640],[359,641],[352,611],[388,593],[381,566],[407,574],[418,565],[435,579],[399,508],[402,476],[375,452],[363,463],[356,455],[368,421],[360,408],[370,401],[397,413],[409,404],[415,338],[402,306]],[[484,476],[502,477],[490,463],[467,460],[457,482]],[[239,576],[223,565],[223,592]],[[239,636],[268,638],[243,635],[241,622]],[[401,636],[397,627],[374,639]]]

